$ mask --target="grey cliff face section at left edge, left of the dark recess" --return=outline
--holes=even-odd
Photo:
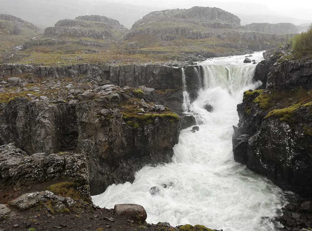
[[[78,137],[75,107],[37,101],[17,97],[0,103],[0,144],[13,142],[28,154],[73,150]]]

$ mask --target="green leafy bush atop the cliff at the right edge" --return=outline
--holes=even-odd
[[[308,31],[302,32],[300,35],[295,36],[293,49],[303,53],[312,52],[312,25]]]

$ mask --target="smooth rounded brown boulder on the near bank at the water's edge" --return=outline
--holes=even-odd
[[[147,213],[142,205],[134,204],[119,204],[114,206],[114,213],[117,215],[124,215],[133,219],[139,219],[144,222],[147,218]]]

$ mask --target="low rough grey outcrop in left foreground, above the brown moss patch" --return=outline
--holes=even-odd
[[[90,198],[89,171],[85,156],[26,152],[12,143],[0,146],[0,191],[7,187],[28,187],[51,180],[73,180],[85,198]]]

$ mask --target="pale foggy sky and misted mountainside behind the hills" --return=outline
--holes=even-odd
[[[190,8],[193,6],[219,7],[241,18],[241,25],[252,22],[295,25],[312,22],[312,1],[261,0],[0,0],[0,13],[11,14],[41,28],[54,26],[61,19],[79,15],[98,14],[120,21],[131,28],[133,23],[152,11]]]

